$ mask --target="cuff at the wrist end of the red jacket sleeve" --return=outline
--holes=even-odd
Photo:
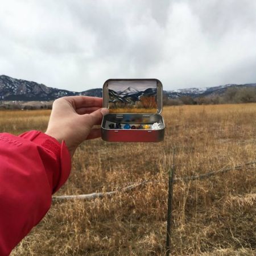
[[[60,166],[59,170],[56,170],[55,175],[53,175],[52,193],[55,193],[67,181],[71,171],[71,155],[69,154],[67,145],[64,141],[59,143],[55,138],[41,131],[27,131],[26,133],[20,134],[19,137],[28,139],[55,155]]]

